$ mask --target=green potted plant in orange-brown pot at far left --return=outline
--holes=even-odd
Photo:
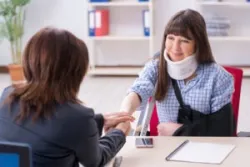
[[[24,34],[25,6],[30,0],[0,1],[0,37],[10,44],[12,63],[8,65],[12,83],[23,82],[22,37]]]

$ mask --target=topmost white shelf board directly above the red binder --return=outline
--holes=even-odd
[[[150,6],[152,5],[151,2],[92,2],[89,3],[89,6],[91,7],[97,7],[97,6]]]

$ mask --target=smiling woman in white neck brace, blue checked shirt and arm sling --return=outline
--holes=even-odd
[[[160,55],[145,65],[120,110],[143,112],[155,97],[159,135],[232,136],[233,91],[233,76],[214,60],[203,17],[188,9],[170,19]]]

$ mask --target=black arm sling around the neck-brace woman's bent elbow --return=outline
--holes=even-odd
[[[235,119],[231,103],[219,111],[184,124],[173,136],[234,136]]]

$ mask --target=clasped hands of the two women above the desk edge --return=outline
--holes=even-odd
[[[126,136],[129,134],[131,129],[130,122],[133,122],[135,120],[135,118],[127,112],[103,114],[103,117],[105,133],[111,129],[119,129]]]

